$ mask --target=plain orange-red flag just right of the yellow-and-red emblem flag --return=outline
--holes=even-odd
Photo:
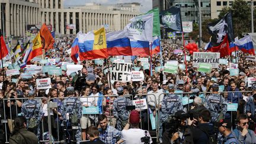
[[[52,34],[50,33],[50,30],[48,29],[46,24],[43,24],[41,26],[40,35],[45,52],[47,52],[47,50],[49,49],[53,49],[53,44],[55,43],[55,40],[53,39]]]

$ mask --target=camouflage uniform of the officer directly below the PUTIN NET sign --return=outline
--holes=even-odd
[[[113,102],[113,114],[117,119],[117,130],[123,130],[127,123],[130,113],[126,110],[127,105],[132,105],[132,101],[127,97],[117,97]]]

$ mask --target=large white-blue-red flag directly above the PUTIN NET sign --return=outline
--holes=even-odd
[[[108,56],[131,56],[132,49],[127,31],[115,31],[106,34]]]

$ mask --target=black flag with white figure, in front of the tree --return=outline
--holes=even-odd
[[[209,34],[212,36],[210,43],[212,46],[219,46],[224,40],[225,36],[228,34],[228,41],[233,42],[233,24],[232,24],[232,14],[229,12],[222,19],[216,21],[215,23],[208,24]]]

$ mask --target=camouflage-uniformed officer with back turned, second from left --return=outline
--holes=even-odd
[[[72,136],[71,133],[75,133],[76,141],[81,140],[81,127],[79,123],[79,119],[82,117],[82,106],[79,98],[73,97],[75,89],[73,87],[67,88],[68,98],[63,100],[63,104],[60,107],[63,121],[61,126],[66,129],[66,133],[68,136]],[[67,137],[66,139],[71,140],[71,137]]]

